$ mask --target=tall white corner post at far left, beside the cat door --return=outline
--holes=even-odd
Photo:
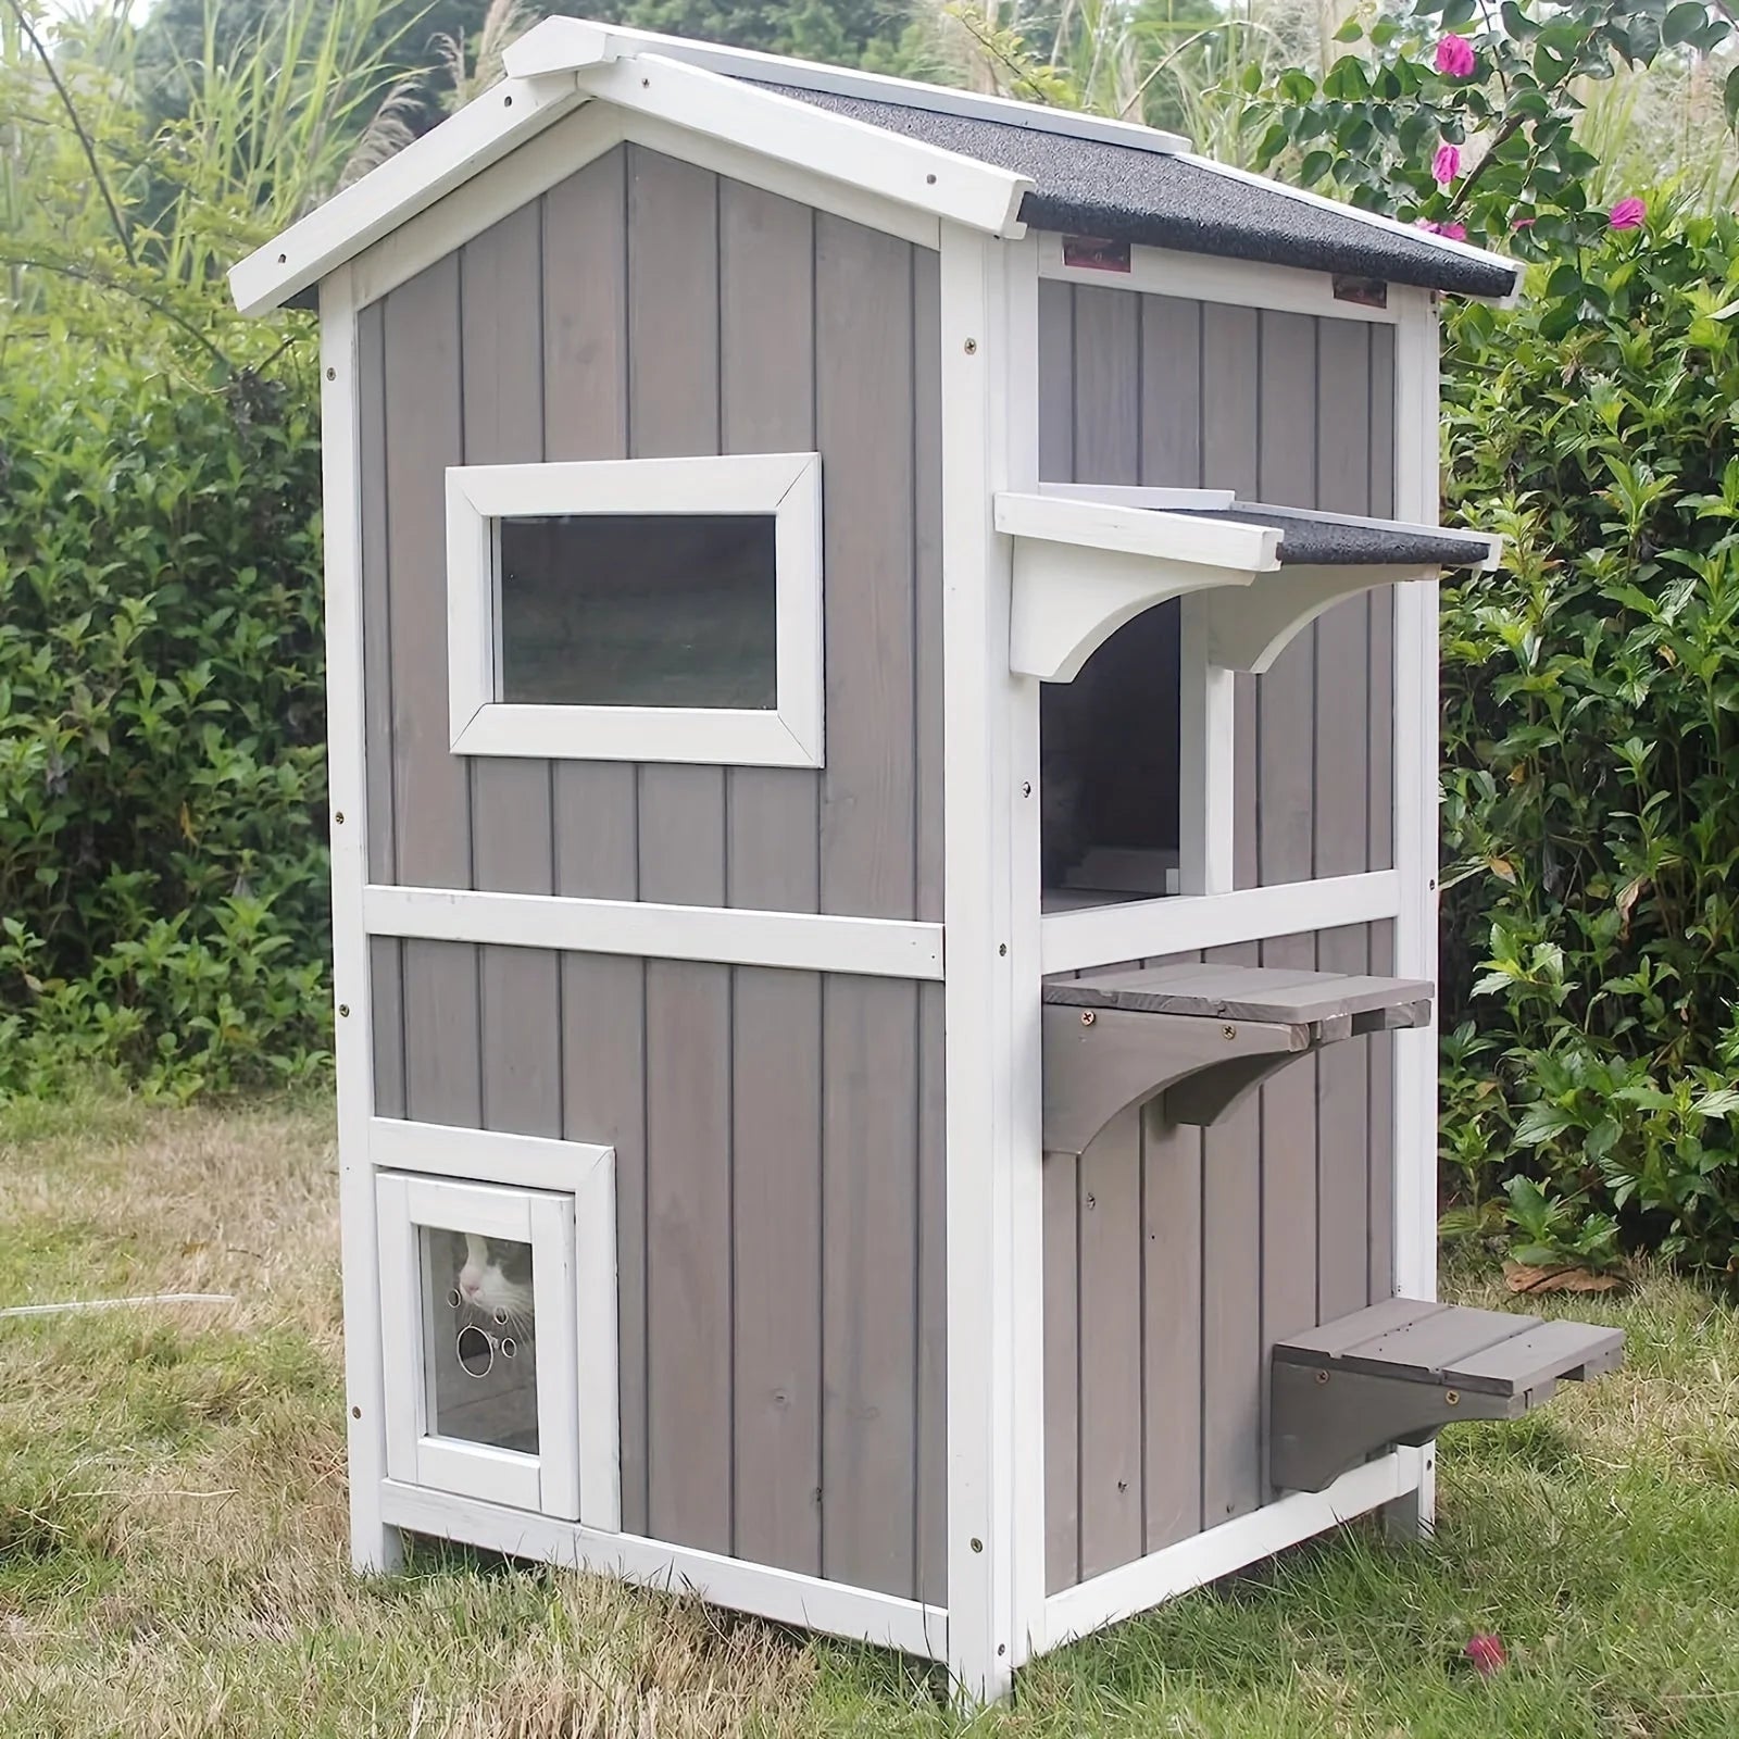
[[[350,266],[320,282],[320,473],[325,499],[327,769],[332,836],[332,995],[337,1005],[337,1163],[344,1264],[344,1400],[350,1428],[350,1556],[395,1570],[398,1529],[381,1518],[386,1386],[381,1370],[379,1242],[369,1118],[374,1023],[362,899],[367,791],[362,741],[362,377]]]

